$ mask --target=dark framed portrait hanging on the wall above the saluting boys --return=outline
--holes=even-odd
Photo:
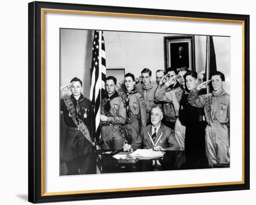
[[[165,71],[169,68],[181,67],[195,70],[195,40],[194,35],[164,37]],[[181,54],[179,55],[179,49]]]

